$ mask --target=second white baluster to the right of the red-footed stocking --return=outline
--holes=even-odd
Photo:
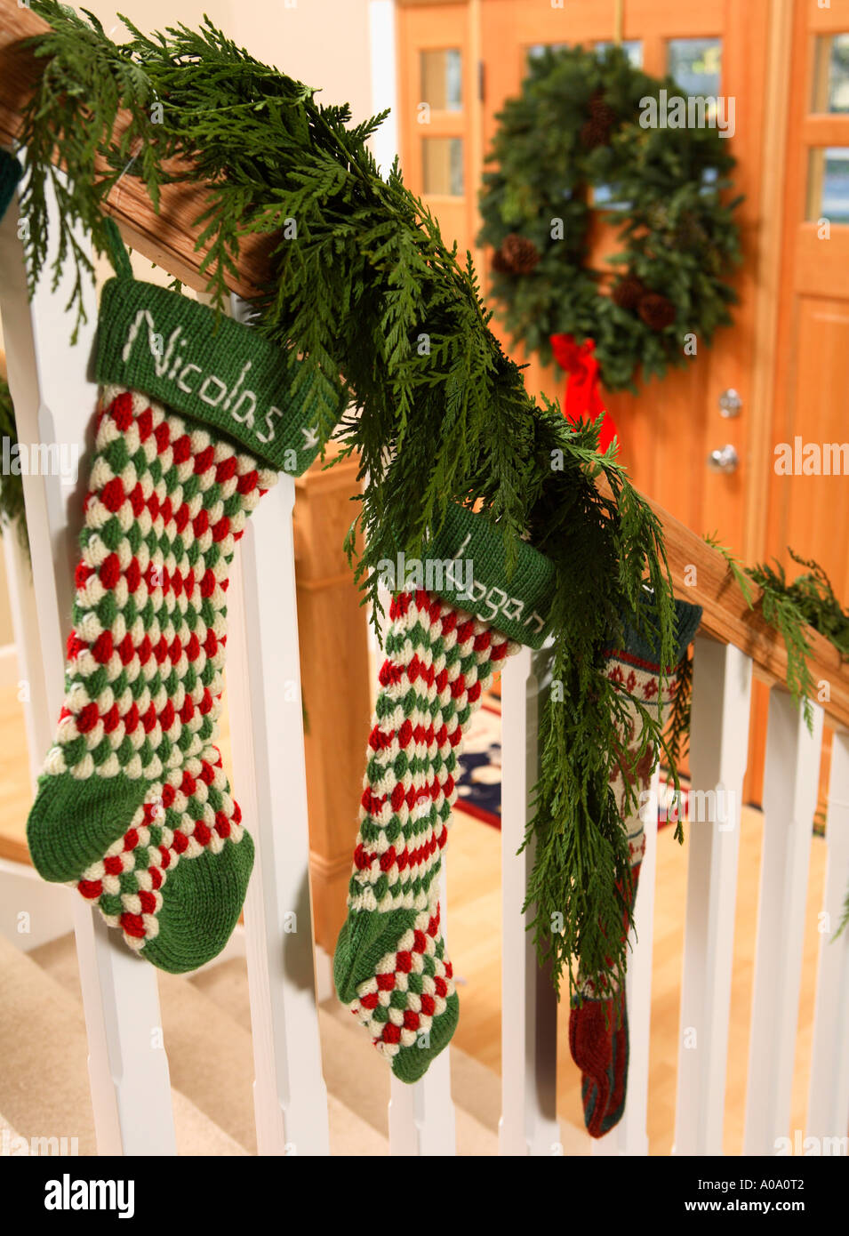
[[[775,1154],[790,1127],[805,908],[817,806],[823,713],[813,733],[784,687],[770,692],[764,769],[764,853],[749,1036],[744,1154]]]

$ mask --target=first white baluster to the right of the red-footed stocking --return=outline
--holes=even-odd
[[[704,795],[701,801],[709,806],[708,794],[716,794],[717,818],[691,818],[688,824],[676,1154],[722,1154],[750,697],[750,658],[730,644],[697,637],[690,766],[693,791]],[[692,801],[699,800],[691,792]]]

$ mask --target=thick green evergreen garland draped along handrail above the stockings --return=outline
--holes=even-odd
[[[451,502],[482,504],[508,564],[528,535],[555,562],[551,660],[565,702],[547,701],[541,721],[528,905],[556,984],[566,969],[573,991],[571,957],[622,981],[630,863],[609,780],[625,713],[602,649],[627,616],[672,664],[672,590],[654,513],[613,454],[598,452],[597,425],[572,428],[556,404],[529,398],[489,330],[471,258],[445,245],[397,164],[382,179],[366,145],[382,117],[350,126],[346,106],[319,104],[209,20],[152,36],[126,22],[130,38],[116,46],[95,19],[56,0],[32,7],[52,26],[30,41],[44,73],[22,115],[32,283],[48,262],[53,158],[68,176],[67,188],[54,183],[54,277],[65,261],[88,274],[73,225],[106,250],[101,208],[122,176],[138,178],[154,206],[164,184],[206,184],[199,243],[215,303],[243,237],[267,234],[273,273],[253,304],[256,329],[302,357],[302,379],[320,389],[323,440],[340,405],[356,405],[340,433],[365,482],[348,536],[353,555],[365,533],[363,598],[377,604],[383,560],[423,556]],[[72,303],[82,307],[78,292]],[[643,750],[664,742],[655,716],[643,711],[641,722]]]

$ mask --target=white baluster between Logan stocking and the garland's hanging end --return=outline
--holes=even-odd
[[[522,913],[533,843],[517,854],[539,779],[539,713],[546,653],[522,649],[502,674],[502,1116],[501,1154],[551,1156],[557,1121],[557,999]]]

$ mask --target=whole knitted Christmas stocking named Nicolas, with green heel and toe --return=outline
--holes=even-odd
[[[179,973],[224,947],[253,861],[215,745],[234,548],[318,441],[284,353],[121,269],[100,307],[65,700],[27,837],[46,880]]]

